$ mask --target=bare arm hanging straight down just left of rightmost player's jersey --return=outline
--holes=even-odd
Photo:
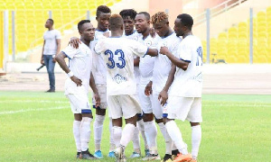
[[[158,100],[161,99],[162,105],[164,105],[164,103],[166,103],[166,101],[168,99],[168,90],[169,90],[170,86],[173,84],[175,72],[176,72],[176,66],[174,64],[172,64],[172,68],[171,68],[169,76],[167,77],[164,88],[160,92],[160,94],[158,95]]]

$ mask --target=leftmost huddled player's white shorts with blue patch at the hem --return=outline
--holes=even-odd
[[[91,113],[88,94],[66,94],[73,113]]]

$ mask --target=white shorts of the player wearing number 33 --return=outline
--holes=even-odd
[[[109,116],[112,119],[129,119],[142,112],[135,95],[108,95],[107,101]]]

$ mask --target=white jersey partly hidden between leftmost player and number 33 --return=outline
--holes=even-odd
[[[92,73],[95,79],[95,84],[106,84],[107,83],[107,67],[104,63],[103,58],[100,55],[97,55],[94,51],[94,47],[98,40],[105,39],[106,37],[103,35],[105,32],[110,31],[95,31],[94,40],[90,41],[90,49],[93,52],[93,67]]]

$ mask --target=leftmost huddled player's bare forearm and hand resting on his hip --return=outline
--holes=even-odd
[[[66,62],[65,62],[65,58],[66,58],[66,55],[61,52],[60,54],[58,54],[55,59],[56,61],[59,63],[59,65],[61,66],[61,68],[67,73],[69,74],[70,73],[70,68],[67,66]],[[78,77],[76,76],[70,76],[70,79],[78,86],[81,86],[82,85],[82,81],[81,79],[79,79]]]

